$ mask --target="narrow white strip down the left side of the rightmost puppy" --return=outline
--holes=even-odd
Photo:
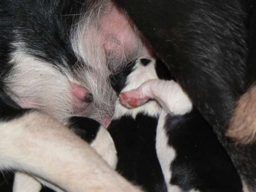
[[[166,130],[164,129],[166,115],[166,111],[162,110],[158,120],[156,129],[156,153],[164,174],[164,180],[166,182],[168,192],[182,192],[182,190],[178,190],[178,187],[170,184],[170,179],[172,176],[170,164],[176,157],[176,152],[174,148],[170,147],[168,144],[168,136],[166,134]]]

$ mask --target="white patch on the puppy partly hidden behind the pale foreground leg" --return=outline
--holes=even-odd
[[[104,126],[100,126],[96,138],[90,144],[96,152],[113,168],[116,168],[117,155],[114,141]]]

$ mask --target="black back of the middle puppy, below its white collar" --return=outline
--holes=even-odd
[[[166,184],[156,156],[158,118],[138,114],[134,120],[122,116],[112,120],[108,131],[118,155],[116,170],[147,192],[166,192]]]

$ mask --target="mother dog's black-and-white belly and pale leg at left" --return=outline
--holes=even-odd
[[[0,4],[0,169],[69,192],[140,191],[64,122],[78,115],[109,124],[116,95],[108,75],[149,54],[130,20],[111,0]]]

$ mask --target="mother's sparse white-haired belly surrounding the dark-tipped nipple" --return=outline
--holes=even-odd
[[[114,31],[115,36],[129,32],[131,35],[128,44],[120,43],[111,32],[102,30],[102,23],[108,20],[111,13],[118,14],[121,18],[120,21],[114,21],[117,26],[125,25]],[[53,64],[27,54],[24,50],[26,43],[18,38],[18,31],[15,34],[17,38],[13,46],[16,51],[10,55],[10,64],[14,67],[5,79],[8,87],[6,92],[20,106],[40,108],[58,120],[72,115],[87,116],[103,124],[110,120],[114,114],[116,94],[110,86],[108,76],[122,70],[145,50],[136,28],[111,0],[88,0],[83,5],[80,20],[73,24],[70,36],[72,48],[78,58],[72,70],[64,59],[62,66],[56,68]],[[106,42],[112,42],[115,49],[106,50]],[[70,82],[87,88],[93,94],[92,104],[79,114],[74,114],[76,106],[72,102]]]

